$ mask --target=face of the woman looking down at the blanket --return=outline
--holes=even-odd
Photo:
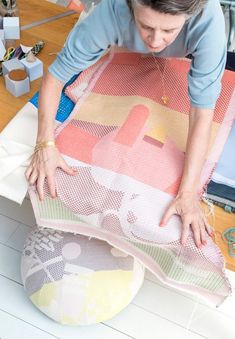
[[[150,7],[135,5],[137,29],[150,52],[161,52],[170,45],[183,27],[186,15],[164,14]]]

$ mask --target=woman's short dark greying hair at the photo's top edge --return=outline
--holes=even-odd
[[[131,13],[135,4],[150,7],[157,12],[171,15],[199,13],[208,0],[126,0]]]

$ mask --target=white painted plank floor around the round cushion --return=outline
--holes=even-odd
[[[20,278],[24,239],[34,224],[29,200],[20,207],[0,198],[1,339],[235,338],[235,296],[218,310],[210,309],[191,296],[164,287],[149,272],[133,302],[112,320],[90,327],[57,324],[27,299]],[[235,272],[228,274],[235,289]]]

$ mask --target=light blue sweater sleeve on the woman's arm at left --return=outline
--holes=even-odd
[[[109,45],[121,44],[118,8],[115,0],[101,1],[70,32],[63,49],[49,66],[49,72],[63,83],[94,64]]]

